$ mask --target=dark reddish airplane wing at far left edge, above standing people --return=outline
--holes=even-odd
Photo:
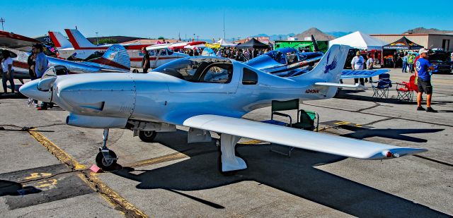
[[[12,32],[0,31],[0,47],[8,49],[18,49],[23,52],[30,52],[33,44],[40,43],[38,40],[17,35]]]

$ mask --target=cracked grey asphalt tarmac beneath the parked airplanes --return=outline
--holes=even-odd
[[[400,70],[391,72],[394,83],[408,81]],[[432,83],[437,114],[399,102],[395,90],[376,99],[371,88],[301,104],[319,113],[323,133],[428,152],[367,161],[296,149],[287,157],[243,139],[236,148],[248,169],[230,175],[218,171],[214,140],[188,144],[182,126],[155,143],[111,130],[117,170],[94,174],[102,130],[67,126],[67,111],[1,96],[0,217],[451,217],[453,75]],[[270,108],[246,118],[270,119]]]

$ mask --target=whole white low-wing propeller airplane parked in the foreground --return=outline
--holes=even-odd
[[[312,71],[292,78],[231,59],[199,56],[172,61],[147,74],[50,73],[26,83],[20,92],[69,111],[68,125],[103,128],[103,145],[96,157],[103,169],[117,161],[106,146],[109,128],[128,128],[144,141],[153,140],[156,132],[176,131],[176,125],[190,127],[189,143],[210,141],[210,131],[220,133],[222,171],[247,168],[234,151],[242,137],[360,159],[425,152],[241,119],[272,100],[333,97],[338,86],[348,86],[338,83],[348,49],[333,45]]]

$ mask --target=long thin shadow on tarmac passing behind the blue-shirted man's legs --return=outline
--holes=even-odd
[[[372,90],[371,90],[372,91]],[[413,102],[408,102],[408,101],[401,101],[399,99],[396,99],[391,97],[389,94],[389,98],[378,98],[378,97],[369,97],[369,96],[363,96],[363,95],[354,95],[354,93],[357,92],[363,92],[362,90],[339,90],[337,95],[335,96],[336,98],[340,99],[352,99],[352,100],[360,100],[360,101],[367,101],[367,102],[383,102],[383,103],[389,103],[389,104],[417,104],[417,96],[416,93],[414,93],[413,97]],[[423,96],[424,99],[426,99],[426,96]],[[453,103],[451,101],[432,101],[432,105],[444,105],[444,104],[449,104]]]

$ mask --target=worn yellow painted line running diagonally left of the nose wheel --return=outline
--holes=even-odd
[[[79,162],[71,157],[71,155],[64,152],[61,148],[59,148],[55,143],[52,143],[48,138],[42,135],[40,132],[37,131],[36,128],[32,128],[28,131],[30,135],[35,138],[41,145],[47,148],[52,155],[55,155],[60,162],[67,164],[68,166],[72,167],[75,170],[87,169],[84,164],[80,164]],[[137,207],[132,205],[128,202],[125,198],[122,198],[121,195],[116,193],[112,188],[105,185],[97,176],[96,174],[90,172],[81,172],[77,174],[84,181],[88,186],[96,190],[96,192],[100,193],[101,196],[107,200],[116,210],[125,214],[126,217],[148,217],[147,214],[140,211]]]

